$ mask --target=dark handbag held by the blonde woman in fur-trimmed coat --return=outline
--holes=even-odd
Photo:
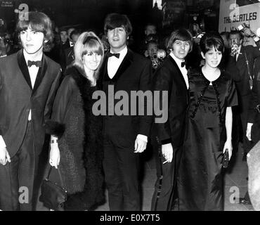
[[[51,168],[52,167],[50,167],[48,171],[48,176],[41,184],[41,195],[39,200],[41,203],[44,203],[45,207],[48,207],[51,210],[64,211],[64,203],[67,200],[67,190],[64,187],[60,169],[58,169],[58,174],[60,176],[61,186],[53,181],[49,181]]]

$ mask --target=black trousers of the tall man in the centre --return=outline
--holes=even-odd
[[[134,153],[134,142],[125,147],[105,129],[103,169],[110,210],[139,211],[139,153]]]

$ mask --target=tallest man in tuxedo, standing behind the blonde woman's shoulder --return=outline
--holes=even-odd
[[[112,13],[105,18],[104,30],[110,44],[110,51],[100,68],[106,96],[111,87],[115,92],[126,91],[129,97],[131,91],[150,90],[152,70],[150,60],[134,53],[126,46],[132,31],[129,18],[126,15]],[[112,107],[114,112],[117,102],[119,100],[115,99],[115,104],[108,104],[107,107]],[[146,103],[145,100],[144,108]],[[127,105],[129,113],[132,108],[136,108],[136,105],[130,103]],[[111,110],[107,109],[108,112]],[[109,207],[115,211],[140,210],[139,153],[146,148],[152,117],[116,115],[108,112],[104,118],[103,167]]]

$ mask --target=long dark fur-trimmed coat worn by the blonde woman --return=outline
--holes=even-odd
[[[47,133],[58,136],[65,210],[91,210],[104,200],[103,120],[92,113],[95,90],[80,68],[69,68],[46,123]]]

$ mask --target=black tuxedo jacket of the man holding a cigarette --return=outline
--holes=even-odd
[[[181,70],[171,56],[167,56],[155,71],[152,83],[155,91],[168,91],[168,108],[162,108],[162,98],[159,103],[155,102],[164,110],[164,115],[168,114],[168,120],[155,123],[152,134],[159,143],[171,143],[174,148],[178,148],[186,137],[190,94]],[[155,115],[157,117],[160,116]]]

